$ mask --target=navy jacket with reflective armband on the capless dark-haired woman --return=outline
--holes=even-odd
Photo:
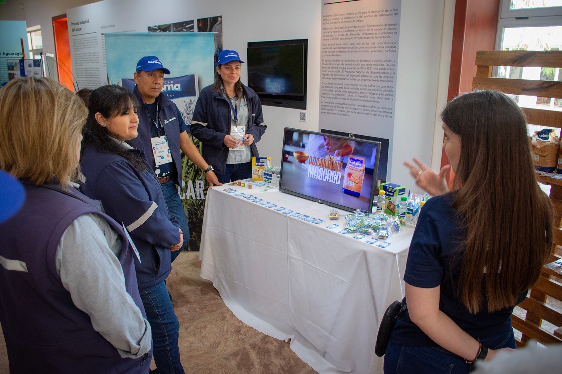
[[[138,149],[129,152],[144,159]],[[168,213],[164,192],[152,169],[140,171],[114,153],[85,146],[80,181],[84,195],[101,200],[106,213],[128,230],[141,264],[135,260],[139,288],[165,280],[171,271],[170,247],[179,243],[179,223]]]

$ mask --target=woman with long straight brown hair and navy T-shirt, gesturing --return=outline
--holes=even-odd
[[[552,245],[553,211],[536,182],[525,116],[506,95],[476,91],[441,113],[451,192],[424,205],[410,244],[407,310],[385,373],[468,373],[515,348],[511,312]]]

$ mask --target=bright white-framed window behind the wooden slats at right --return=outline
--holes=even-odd
[[[562,50],[562,0],[501,0],[497,50]],[[562,81],[560,68],[502,66],[497,77]],[[562,111],[562,99],[516,95],[526,108]],[[529,131],[536,129],[529,126]]]

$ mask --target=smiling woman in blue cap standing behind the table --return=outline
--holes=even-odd
[[[252,156],[267,127],[259,97],[240,81],[242,63],[235,50],[219,54],[215,83],[201,90],[191,122],[220,183],[252,176]]]

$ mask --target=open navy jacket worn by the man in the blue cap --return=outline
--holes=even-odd
[[[142,96],[140,96],[137,86],[135,86],[133,93],[137,96],[140,103],[140,109],[138,112],[139,116],[139,126],[137,127],[138,135],[133,140],[135,147],[138,149],[151,150],[150,154],[147,154],[146,159],[150,169],[154,170],[155,161],[152,155],[152,143],[150,138],[152,136],[152,120],[150,119],[150,114],[148,113],[148,108],[144,104]],[[180,148],[179,142],[179,121],[183,122],[182,114],[180,113],[176,104],[172,103],[166,98],[162,93],[156,98],[158,103],[158,120],[160,126],[164,127],[164,132],[168,137],[168,144],[170,146],[170,153],[172,154],[172,159],[174,160],[174,167],[176,169],[176,180],[175,184],[182,186],[182,149]],[[176,243],[177,244],[177,243]]]

